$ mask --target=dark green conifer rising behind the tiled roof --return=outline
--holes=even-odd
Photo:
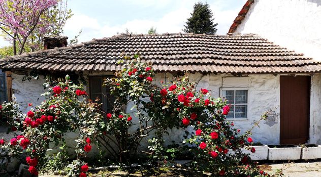
[[[194,5],[194,10],[190,14],[191,17],[187,19],[186,25],[184,25],[184,32],[197,33],[197,34],[215,34],[217,29],[217,23],[214,23],[213,13],[210,10],[210,6],[202,2]]]

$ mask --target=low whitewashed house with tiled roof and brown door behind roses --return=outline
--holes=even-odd
[[[122,68],[117,64],[120,54],[137,51],[142,62],[152,63],[156,83],[189,72],[197,89],[207,88],[213,97],[226,97],[231,104],[227,119],[242,130],[272,109],[268,120],[253,130],[254,141],[321,143],[321,62],[254,34],[120,34],[14,56],[0,68],[12,72],[13,96],[22,103],[23,111],[27,103],[37,105],[44,100],[40,97],[43,77],[22,81],[30,73],[80,76],[88,83],[90,97],[100,97],[108,110],[103,78]],[[177,131],[167,140],[181,138]]]

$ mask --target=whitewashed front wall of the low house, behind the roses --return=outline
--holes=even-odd
[[[40,96],[44,92],[42,83],[44,79],[22,81],[22,75],[13,74],[13,91],[17,101],[22,103],[22,110],[28,111],[27,104],[32,102],[34,105],[40,104],[44,100]],[[170,73],[158,73],[155,83],[172,78]],[[260,127],[253,130],[252,138],[255,142],[265,144],[279,143],[279,75],[271,74],[249,75],[248,77],[233,77],[232,75],[203,75],[200,73],[190,74],[190,81],[198,82],[197,89],[207,88],[212,97],[220,96],[220,88],[224,87],[244,87],[248,90],[248,118],[246,120],[234,120],[237,127],[244,132],[249,129],[253,121],[260,119],[263,112],[273,109],[274,112],[267,121],[263,121]],[[311,106],[310,106],[310,143],[321,143],[321,74],[314,74],[311,80]],[[127,112],[131,106],[127,107]],[[133,114],[133,113],[132,113]],[[137,118],[133,119],[138,126]],[[133,129],[135,129],[133,127]],[[192,130],[190,127],[189,130]],[[170,144],[172,141],[180,142],[183,139],[182,130],[173,130],[165,140]],[[73,137],[71,135],[71,137]],[[75,138],[75,137],[74,137]],[[72,138],[71,138],[72,139]],[[72,142],[71,142],[72,143]],[[142,141],[145,146],[147,142]]]

